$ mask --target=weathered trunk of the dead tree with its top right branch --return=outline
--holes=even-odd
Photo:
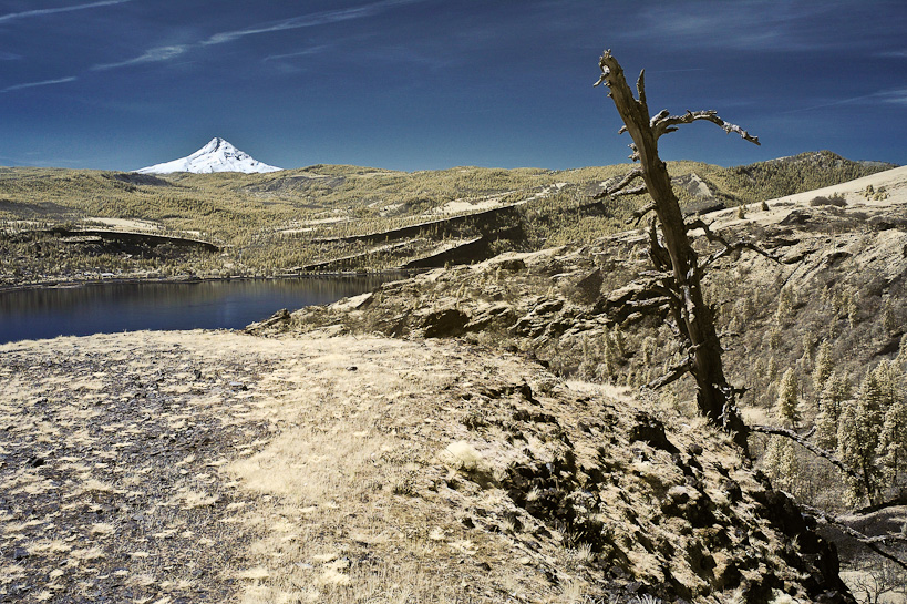
[[[741,133],[744,139],[759,144],[757,139],[750,136],[745,131],[733,124],[726,124],[714,112],[688,112],[686,116],[672,117],[667,112],[659,113],[656,119],[649,114],[646,103],[643,73],[637,82],[639,99],[633,96],[623,70],[610,51],[602,54],[599,66],[601,78],[598,84],[605,83],[610,92],[626,131],[630,133],[633,144],[630,145],[633,161],[640,163],[641,177],[646,190],[652,197],[655,213],[661,225],[664,247],[670,255],[673,281],[671,288],[679,295],[677,307],[679,327],[686,338],[687,348],[691,351],[690,372],[697,382],[697,405],[700,412],[712,423],[728,431],[734,442],[744,452],[748,451],[748,429],[738,412],[734,402],[734,390],[728,385],[724,368],[721,361],[721,342],[715,332],[712,311],[705,305],[702,296],[701,267],[697,253],[687,236],[687,225],[680,211],[680,204],[671,188],[671,178],[664,162],[658,156],[658,139],[667,132],[677,130],[677,125],[695,120],[708,120],[719,124],[728,132]],[[637,176],[636,171],[628,175],[621,184],[626,184]]]

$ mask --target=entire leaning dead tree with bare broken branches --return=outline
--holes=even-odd
[[[721,362],[721,342],[715,332],[712,309],[702,297],[702,275],[709,264],[745,245],[729,245],[711,233],[705,226],[707,236],[718,237],[723,249],[712,254],[705,262],[700,262],[693,249],[688,231],[701,228],[703,223],[687,224],[680,204],[671,188],[671,178],[664,162],[658,156],[658,140],[661,135],[674,132],[678,126],[697,121],[712,122],[726,132],[740,134],[744,140],[759,144],[759,139],[745,130],[723,121],[714,111],[688,111],[683,115],[671,115],[667,110],[650,116],[646,103],[645,71],[637,81],[638,99],[633,96],[623,70],[617,60],[606,51],[599,60],[601,76],[595,85],[605,84],[610,89],[608,96],[614,100],[625,126],[619,133],[629,132],[633,142],[630,145],[633,162],[639,166],[631,170],[614,186],[608,187],[600,196],[628,195],[648,192],[651,203],[635,214],[639,221],[653,212],[661,237],[658,236],[656,221],[650,226],[650,257],[657,273],[647,277],[647,287],[663,298],[673,318],[673,327],[680,337],[684,358],[672,367],[668,375],[659,378],[653,386],[666,386],[686,373],[691,373],[697,383],[697,405],[700,412],[712,423],[732,434],[744,452],[748,451],[746,424],[736,409],[736,390],[724,378]],[[642,181],[632,188],[630,185]]]

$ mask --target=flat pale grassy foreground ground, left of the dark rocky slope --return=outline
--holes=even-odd
[[[579,593],[570,561],[470,531],[472,495],[446,487],[478,453],[447,451],[466,429],[437,412],[475,377],[522,383],[533,369],[513,359],[200,330],[21,341],[0,358],[0,602]]]

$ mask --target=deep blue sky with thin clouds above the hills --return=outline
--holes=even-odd
[[[280,167],[626,161],[610,48],[666,160],[907,163],[904,0],[0,0],[0,165],[134,170],[223,136]]]

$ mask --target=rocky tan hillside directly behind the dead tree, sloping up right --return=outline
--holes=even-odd
[[[748,388],[742,402],[751,421],[779,423],[772,408],[779,379],[791,368],[801,385],[806,432],[818,412],[812,373],[823,342],[835,369],[854,383],[882,360],[907,359],[900,344],[907,325],[907,168],[704,217],[725,238],[745,237],[774,256],[744,252],[726,258],[708,281],[724,332],[726,372]],[[563,378],[639,387],[679,354],[663,317],[630,325],[617,311],[616,303],[635,294],[626,284],[648,269],[646,247],[646,235],[630,232],[586,246],[505,254],[385,284],[329,307],[278,314],[250,331],[460,338],[521,354]],[[656,408],[689,416],[690,397],[689,385],[679,383],[656,397]],[[766,442],[754,437],[753,450]],[[826,512],[853,510],[831,464],[797,451],[793,465],[793,474],[773,471],[784,489]],[[854,555],[849,547],[847,553]]]

